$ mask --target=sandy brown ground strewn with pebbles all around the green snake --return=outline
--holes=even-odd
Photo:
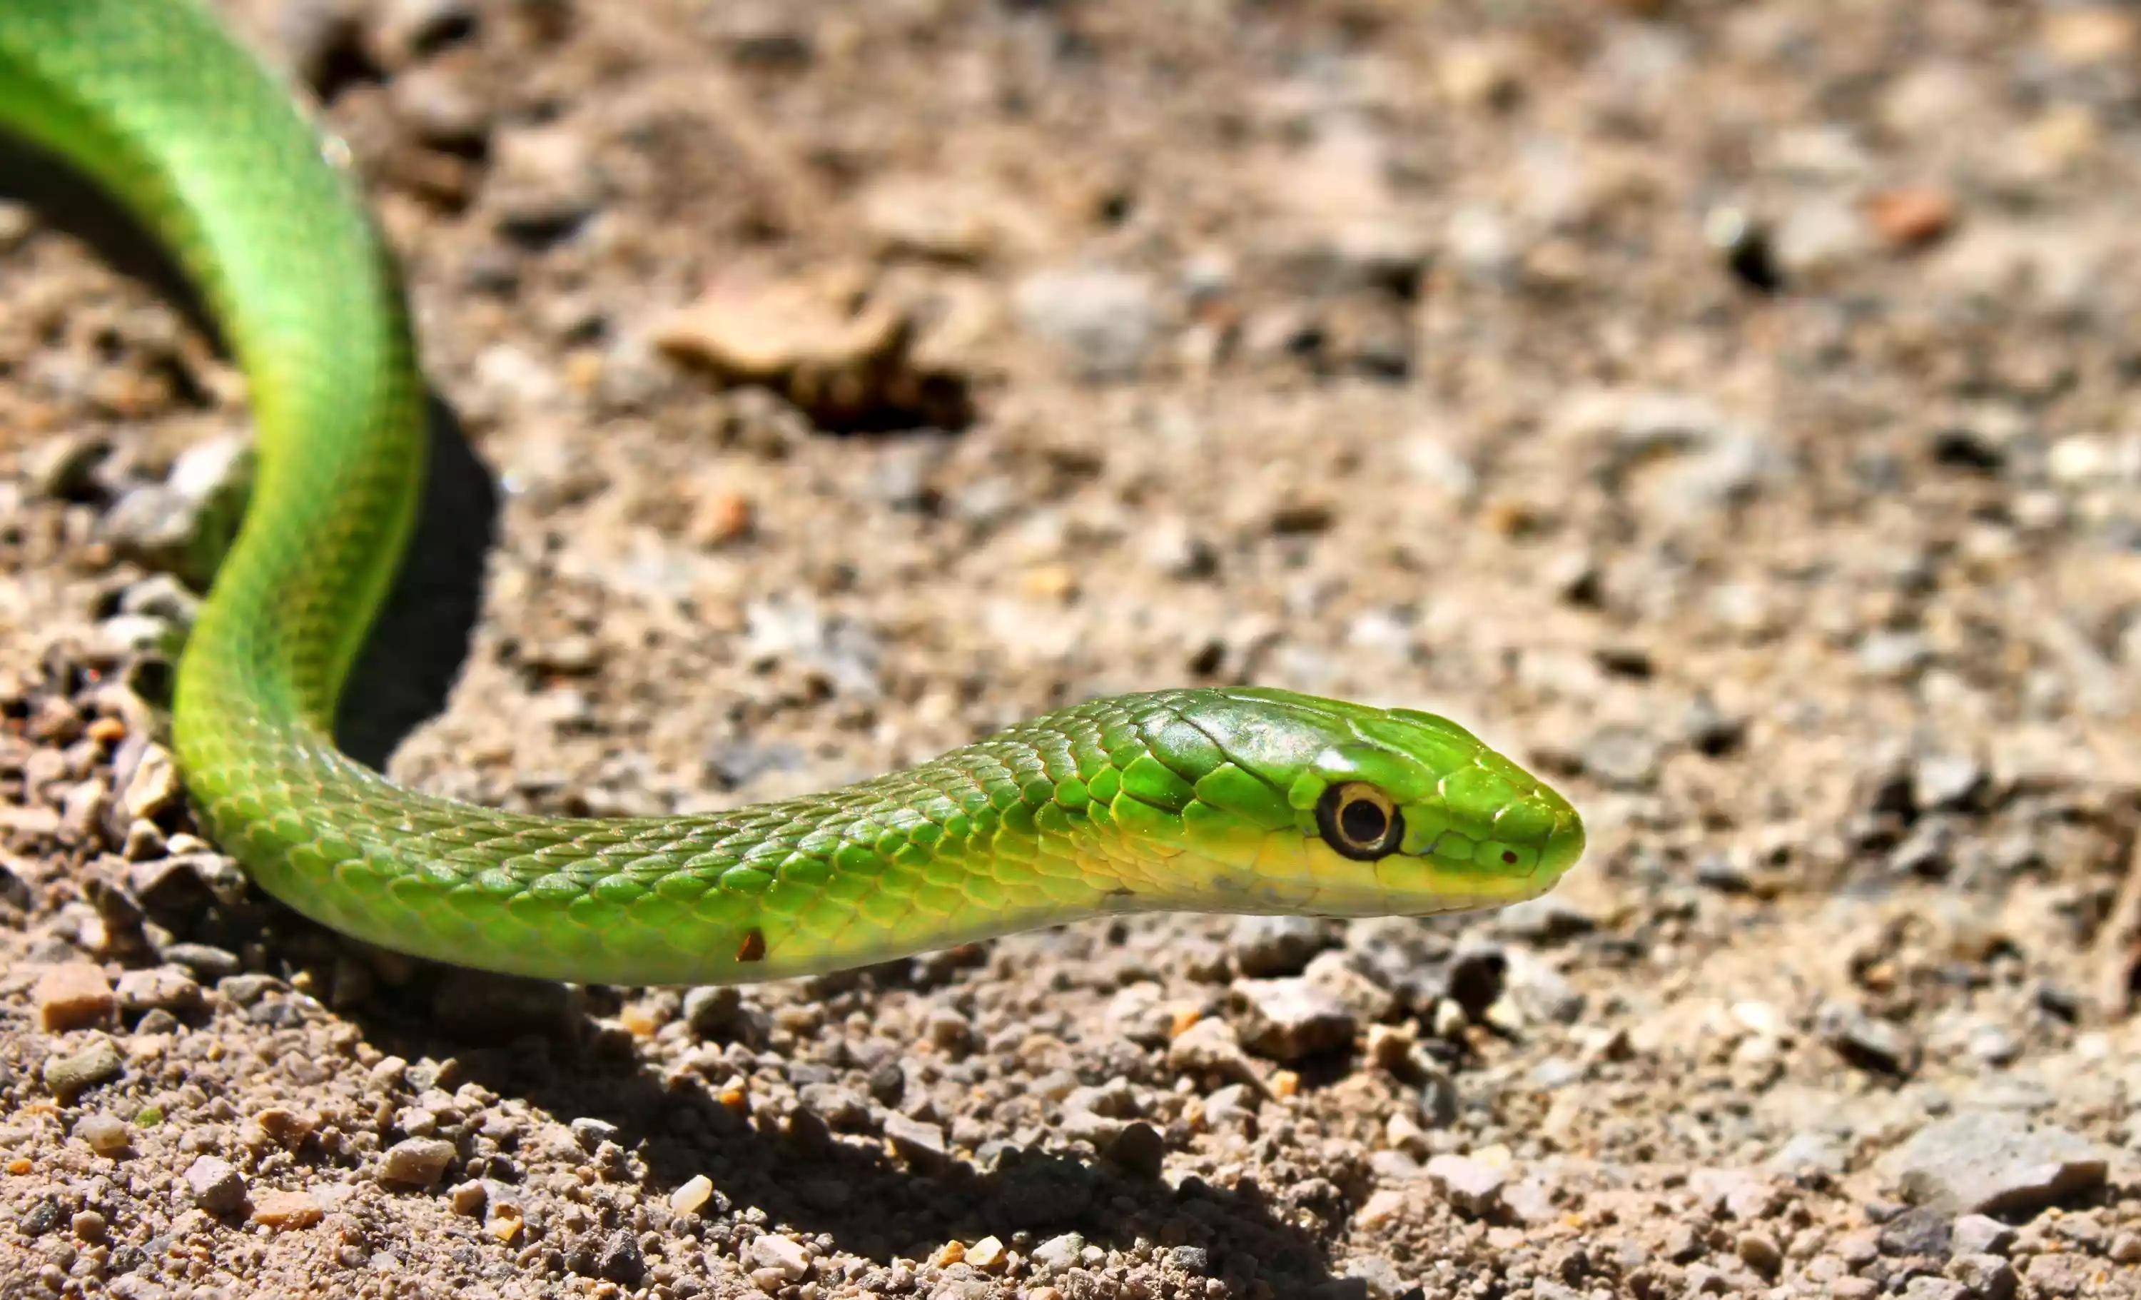
[[[0,1296],[2141,1294],[2141,11],[238,17],[441,400],[360,754],[694,810],[1259,681],[1593,848],[741,992],[364,951],[156,743],[242,386],[0,167]]]

